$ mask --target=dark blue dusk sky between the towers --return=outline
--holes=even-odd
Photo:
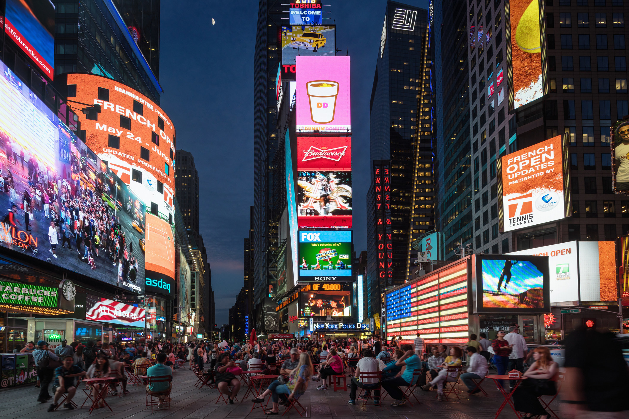
[[[289,3],[288,1],[282,3]],[[380,47],[384,0],[324,0],[324,23],[337,24],[337,55],[352,57],[353,231],[367,249],[369,99]],[[428,8],[428,0],[403,2]],[[161,106],[177,130],[177,149],[199,171],[200,229],[212,271],[216,322],[243,286],[243,239],[253,202],[253,50],[255,0],[162,1]],[[326,16],[327,15],[327,16]],[[214,19],[216,24],[212,25]],[[288,19],[286,19],[288,23]]]

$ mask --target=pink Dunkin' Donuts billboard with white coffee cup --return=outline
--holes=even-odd
[[[350,133],[350,57],[296,57],[297,133]]]

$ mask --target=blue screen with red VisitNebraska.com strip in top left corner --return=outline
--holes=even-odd
[[[53,79],[55,5],[52,1],[6,0],[4,32],[50,80]]]

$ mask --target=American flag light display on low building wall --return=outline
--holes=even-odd
[[[411,343],[419,332],[427,344],[467,342],[467,263],[452,264],[387,293],[387,336]]]

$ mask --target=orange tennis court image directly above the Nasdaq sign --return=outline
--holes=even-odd
[[[170,224],[156,215],[147,214],[146,226],[145,268],[174,278],[175,241]]]

